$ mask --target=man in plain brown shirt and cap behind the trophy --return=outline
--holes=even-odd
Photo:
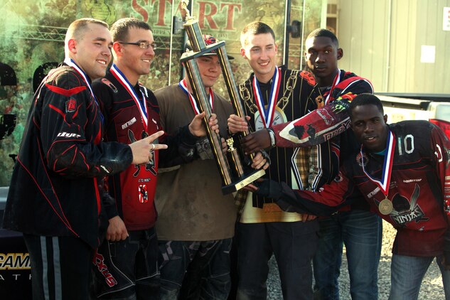
[[[206,45],[216,42],[213,36],[207,35],[203,40]],[[191,47],[191,43],[186,45],[188,50]],[[210,108],[217,115],[220,136],[227,136],[227,118],[233,114],[233,109],[225,98],[213,91],[222,73],[218,55],[211,52],[194,59]],[[187,75],[175,85],[156,90],[155,95],[161,125],[168,134],[176,134],[183,124],[200,113]],[[203,272],[204,279],[199,289],[195,289],[203,299],[226,299],[230,289],[229,252],[236,210],[232,195],[220,193],[222,178],[211,148],[208,139],[202,139],[196,144],[198,159],[191,164],[159,169],[156,232],[162,255],[161,299],[177,298],[186,272],[187,276]],[[252,166],[261,168],[265,163],[262,155],[257,154]],[[191,292],[187,291],[183,298]]]

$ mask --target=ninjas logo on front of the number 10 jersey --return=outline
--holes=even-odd
[[[414,191],[411,195],[411,199],[408,200],[405,196],[399,193],[395,194],[392,198],[392,213],[390,213],[390,218],[395,224],[406,227],[407,223],[415,222],[419,223],[421,221],[428,221],[422,210],[417,204],[417,199],[419,199],[420,187],[418,184],[415,185]],[[379,201],[375,200],[378,205]]]

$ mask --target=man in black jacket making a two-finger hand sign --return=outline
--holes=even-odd
[[[106,23],[81,18],[65,37],[65,60],[38,87],[9,186],[4,227],[23,232],[33,299],[89,299],[92,257],[106,195],[101,178],[153,159],[158,132],[133,144],[102,141],[91,80],[105,76]],[[161,148],[165,146],[161,145]]]

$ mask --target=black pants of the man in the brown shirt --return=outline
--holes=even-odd
[[[161,300],[225,300],[230,291],[231,239],[159,241]]]

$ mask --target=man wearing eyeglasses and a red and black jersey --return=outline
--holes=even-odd
[[[119,19],[111,33],[114,63],[92,88],[105,116],[105,140],[131,144],[161,130],[156,98],[138,82],[150,72],[156,45],[149,25],[136,18]],[[130,166],[108,178],[115,203],[112,199],[105,203],[109,226],[94,259],[95,293],[100,299],[159,299],[154,230],[158,161],[182,164],[193,159],[197,136],[205,135],[203,115],[183,124],[177,136],[162,136],[168,150],[154,151],[149,164]]]

